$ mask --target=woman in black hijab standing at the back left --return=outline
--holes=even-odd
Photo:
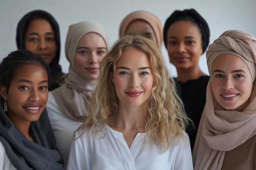
[[[46,11],[35,10],[22,17],[17,26],[18,49],[27,49],[43,57],[51,69],[49,91],[61,86],[66,75],[58,64],[60,58],[60,33],[58,23]]]

